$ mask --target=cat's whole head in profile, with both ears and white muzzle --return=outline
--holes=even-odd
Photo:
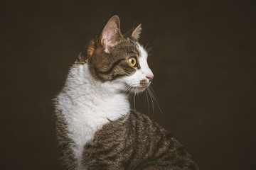
[[[154,75],[147,64],[147,52],[139,45],[139,25],[130,36],[120,30],[118,16],[112,16],[87,47],[87,62],[92,77],[101,82],[117,81],[144,91]]]

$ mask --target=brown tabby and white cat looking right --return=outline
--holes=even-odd
[[[57,140],[66,169],[198,169],[184,147],[130,108],[154,74],[139,44],[142,26],[122,35],[118,16],[80,52],[55,98]]]

